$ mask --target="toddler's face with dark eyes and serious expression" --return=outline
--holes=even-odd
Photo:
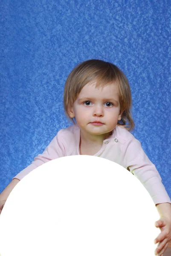
[[[92,135],[107,134],[121,119],[116,84],[96,88],[96,81],[86,84],[69,112],[81,130]]]

